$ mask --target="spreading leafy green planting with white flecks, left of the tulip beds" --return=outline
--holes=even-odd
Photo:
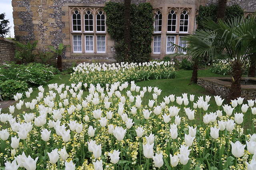
[[[28,87],[39,86],[51,80],[56,68],[40,63],[0,65],[0,90],[5,100],[13,99],[16,93],[23,93]]]

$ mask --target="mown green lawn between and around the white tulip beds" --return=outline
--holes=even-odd
[[[218,110],[218,106],[216,105],[213,94],[210,94],[204,88],[202,88],[201,86],[198,86],[197,84],[190,84],[191,75],[192,75],[191,70],[179,70],[179,71],[177,71],[176,78],[174,78],[174,79],[148,80],[148,81],[137,82],[136,85],[141,87],[140,90],[142,90],[142,87],[144,87],[144,86],[158,87],[159,89],[161,89],[162,90],[161,95],[158,97],[159,102],[164,101],[163,98],[165,96],[169,96],[170,94],[174,94],[175,96],[182,96],[183,93],[187,93],[188,98],[189,98],[190,94],[194,94],[195,95],[194,102],[196,102],[198,100],[199,96],[204,96],[204,98],[205,98],[206,95],[209,95],[209,96],[211,96],[211,99],[210,99],[210,102],[208,103],[208,104],[210,104],[210,106],[209,106],[207,112],[208,113],[215,112],[216,110]],[[207,77],[224,77],[223,75],[212,73],[208,69],[198,70],[198,77],[206,77],[206,76]],[[45,91],[48,91],[48,84],[64,83],[65,85],[70,85],[69,79],[70,79],[70,74],[58,74],[54,77],[54,79],[50,80],[46,84],[43,84],[43,87],[45,88]],[[130,86],[127,89],[130,90]],[[33,88],[33,93],[31,94],[30,98],[24,98],[24,102],[30,102],[31,99],[36,98],[36,96],[38,96],[38,92],[39,92],[38,88],[36,88],[36,87]],[[84,90],[84,96],[87,96],[87,95],[88,95],[88,90],[87,91]],[[152,96],[149,96],[148,93],[146,93],[145,97],[143,98],[143,105],[144,104],[147,105],[149,99],[152,99]],[[244,103],[247,103],[247,101],[244,101]],[[178,104],[176,104],[176,102],[174,102],[174,104],[175,104],[175,106],[178,106]],[[223,105],[224,104],[226,104],[226,100],[224,100]],[[183,104],[180,107],[183,108],[185,106]],[[186,106],[186,107],[192,108],[192,103],[190,102],[188,104],[188,106]],[[20,111],[17,111],[17,109],[15,109],[15,110],[16,110],[15,111],[16,114],[14,113],[14,116],[16,116],[17,113],[22,113],[23,111],[28,112],[28,113],[30,111],[29,109],[26,109],[25,104],[24,104],[24,106],[22,106],[22,109]],[[201,110],[202,110],[201,111],[202,114],[206,113],[203,111],[203,109],[201,109]],[[223,108],[220,107],[220,110],[223,110]],[[237,106],[236,109],[234,109],[232,116],[234,116],[234,113],[239,112],[239,111],[240,111],[239,106]],[[2,113],[9,113],[9,109],[8,108],[2,109]],[[198,116],[197,114],[198,113],[196,113],[195,117],[197,118],[197,122],[199,123],[200,116]],[[223,114],[225,114],[225,113],[223,112]],[[245,121],[244,129],[251,128],[250,116],[248,116],[249,114],[250,114],[250,108],[248,109],[247,113],[245,113],[245,115],[244,115],[244,121]],[[184,110],[181,109],[180,116],[184,116],[184,115],[185,115]],[[0,124],[0,125],[3,125],[3,124]]]

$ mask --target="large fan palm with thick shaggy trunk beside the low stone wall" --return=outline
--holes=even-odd
[[[256,40],[255,24],[254,21],[244,22],[243,18],[207,23],[208,28],[216,33],[214,46],[217,50],[214,55],[221,56],[232,67],[232,83],[228,101],[241,96],[242,72],[248,66],[250,55],[255,50],[255,46],[251,44]]]

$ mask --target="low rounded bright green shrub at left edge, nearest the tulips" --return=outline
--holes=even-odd
[[[28,90],[28,83],[21,80],[6,80],[0,84],[1,95],[5,100],[13,99],[16,93],[24,93]]]

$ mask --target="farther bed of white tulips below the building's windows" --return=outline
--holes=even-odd
[[[78,64],[71,74],[71,83],[88,83],[96,85],[99,83],[105,87],[106,84],[114,82],[138,82],[150,79],[174,78],[176,72],[172,63],[150,61],[146,63],[121,63],[100,64],[84,63]]]

